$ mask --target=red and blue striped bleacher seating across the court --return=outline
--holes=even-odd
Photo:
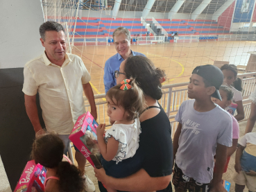
[[[148,20],[148,19],[146,19]],[[231,34],[228,28],[219,26],[218,22],[212,20],[191,20],[191,19],[156,19],[158,23],[167,31],[167,33],[176,33],[178,35],[212,35],[210,37],[200,37],[199,40],[216,40],[218,35]],[[71,22],[68,19],[62,19],[62,22]],[[74,20],[75,21],[75,20]],[[69,23],[68,23],[69,24]],[[77,19],[76,30],[74,37],[75,42],[83,42],[83,38],[86,38],[86,42],[105,42],[104,37],[112,37],[112,34],[116,28],[123,26],[130,30],[132,37],[146,36],[149,31],[143,26],[140,19],[133,18],[95,18],[95,17],[82,17]],[[72,26],[74,28],[74,22],[72,20]],[[73,31],[71,30],[71,35]],[[95,39],[94,37],[97,37]],[[101,38],[102,37],[102,38]],[[170,39],[171,37],[169,37]],[[112,42],[108,42],[112,43]]]

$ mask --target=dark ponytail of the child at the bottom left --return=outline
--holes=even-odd
[[[60,191],[84,191],[85,179],[76,166],[69,164],[69,162],[60,162],[56,174],[60,178]]]

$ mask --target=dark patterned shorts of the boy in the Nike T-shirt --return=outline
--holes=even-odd
[[[173,173],[173,185],[177,191],[189,192],[207,192],[210,191],[210,183],[201,184],[196,182],[193,178],[184,175],[180,168],[175,164]]]

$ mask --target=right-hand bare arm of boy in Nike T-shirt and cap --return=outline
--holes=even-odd
[[[226,191],[222,185],[222,174],[227,161],[227,146],[217,143],[216,147],[216,171],[214,172],[212,182],[210,184],[210,191]]]

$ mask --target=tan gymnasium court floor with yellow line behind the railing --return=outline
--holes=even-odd
[[[187,82],[194,67],[214,64],[214,60],[230,64],[246,65],[256,42],[192,42],[132,45],[131,49],[144,53],[156,67],[164,69],[167,81],[164,84]],[[103,94],[105,61],[116,54],[114,46],[75,46],[72,53],[80,56],[92,76],[94,94]]]

